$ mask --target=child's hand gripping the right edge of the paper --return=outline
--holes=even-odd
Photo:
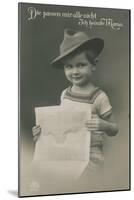
[[[86,121],[85,126],[89,131],[104,131],[105,121],[93,114],[92,118]]]

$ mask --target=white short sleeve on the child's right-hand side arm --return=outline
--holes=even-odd
[[[112,113],[112,106],[105,92],[98,95],[95,100],[95,107],[100,117],[105,118]]]

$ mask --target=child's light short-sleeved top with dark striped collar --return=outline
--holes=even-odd
[[[71,91],[71,87],[65,89],[61,94],[61,105],[72,104],[76,102],[76,106],[81,107],[90,106],[93,114],[98,115],[100,118],[105,118],[112,113],[112,106],[109,98],[104,91],[96,87],[90,94],[78,94]],[[72,107],[73,108],[73,107]],[[98,167],[104,162],[103,155],[104,132],[93,131],[91,134],[90,143],[90,166]]]

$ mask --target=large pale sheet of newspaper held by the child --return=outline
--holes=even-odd
[[[35,108],[41,134],[36,142],[33,163],[44,174],[78,178],[90,158],[90,132],[84,124],[90,109],[48,106]]]

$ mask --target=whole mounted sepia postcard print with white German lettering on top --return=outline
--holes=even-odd
[[[130,190],[130,10],[18,4],[20,197]]]

